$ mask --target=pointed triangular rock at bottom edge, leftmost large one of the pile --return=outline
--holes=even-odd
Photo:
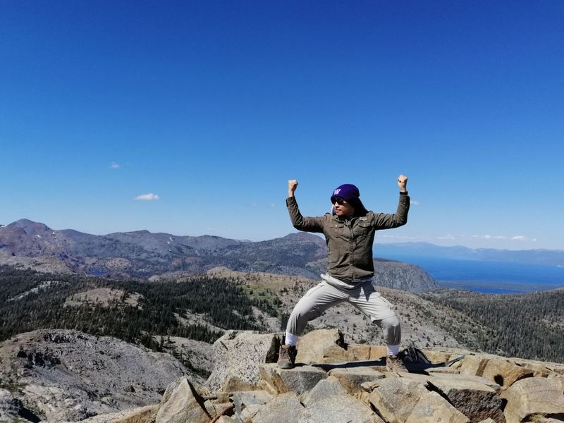
[[[166,388],[155,423],[208,423],[210,418],[202,397],[181,377]]]

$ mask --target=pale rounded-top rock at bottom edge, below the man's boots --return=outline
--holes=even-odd
[[[302,411],[298,423],[384,423],[378,415],[348,395],[332,396],[309,405]]]

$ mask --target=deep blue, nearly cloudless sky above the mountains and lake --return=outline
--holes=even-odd
[[[0,223],[564,249],[560,1],[0,2]],[[152,194],[152,196],[151,196]],[[145,197],[140,197],[145,195]],[[152,198],[152,200],[135,200]]]

